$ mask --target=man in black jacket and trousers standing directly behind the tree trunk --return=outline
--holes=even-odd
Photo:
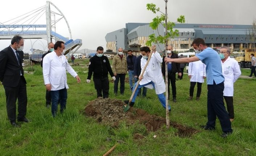
[[[168,46],[167,47],[167,57],[168,58],[178,58],[177,54],[173,53],[173,47]],[[165,76],[165,62],[164,62],[165,56],[163,56],[163,62],[162,62],[162,74]],[[181,76],[181,67],[179,63],[168,63],[168,99],[170,99],[170,83],[172,85],[172,94],[173,94],[173,102],[176,102],[176,73],[178,72],[178,75]]]

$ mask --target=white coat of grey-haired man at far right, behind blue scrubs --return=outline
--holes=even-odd
[[[228,56],[227,60],[222,63],[222,75],[225,77],[223,96],[233,96],[234,83],[241,75],[238,62]]]

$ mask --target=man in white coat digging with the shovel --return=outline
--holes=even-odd
[[[141,81],[138,85],[138,88],[135,91],[135,95],[132,98],[130,106],[134,105],[137,94],[139,93],[139,89],[142,87],[147,87],[149,89],[155,88],[158,99],[161,102],[162,106],[165,108],[165,82],[161,73],[162,58],[160,54],[156,51],[156,46],[152,46],[152,50],[153,54],[149,60],[148,66],[146,67],[143,76],[139,76],[139,79]],[[142,55],[141,70],[143,70],[150,55],[150,49],[149,47],[141,47],[140,52]],[[134,84],[133,90],[135,89],[136,85],[137,83]],[[125,100],[124,102],[128,104],[129,100]],[[170,110],[171,107],[169,105],[169,111]]]

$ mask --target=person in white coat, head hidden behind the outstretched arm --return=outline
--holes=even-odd
[[[194,94],[194,88],[195,84],[197,83],[197,100],[199,100],[201,91],[202,91],[202,83],[205,82],[206,78],[206,65],[202,63],[201,60],[195,61],[195,62],[190,62],[189,63],[189,70],[188,70],[188,75],[190,78],[190,89],[189,89],[189,99],[193,99],[193,94]]]

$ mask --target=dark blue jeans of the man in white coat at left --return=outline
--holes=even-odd
[[[67,89],[51,90],[51,114],[56,116],[58,111],[58,103],[60,101],[61,113],[66,109],[67,104]]]

